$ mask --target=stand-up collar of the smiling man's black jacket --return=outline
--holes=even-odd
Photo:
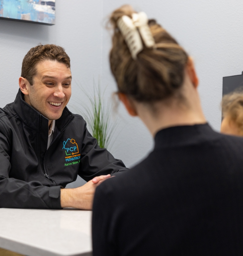
[[[20,89],[14,100],[13,108],[19,118],[32,130],[38,130],[41,122],[41,126],[46,126],[48,131],[48,119],[24,101],[24,95]],[[62,131],[66,127],[67,123],[71,122],[73,116],[74,114],[65,107],[62,116],[55,122],[57,129]]]

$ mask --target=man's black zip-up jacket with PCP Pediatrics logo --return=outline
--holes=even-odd
[[[60,188],[78,174],[89,181],[127,170],[67,107],[55,121],[48,149],[47,140],[48,119],[19,90],[15,101],[0,109],[0,207],[61,209]]]

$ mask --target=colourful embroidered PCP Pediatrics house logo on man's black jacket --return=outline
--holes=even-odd
[[[65,161],[67,163],[65,163],[65,166],[80,163],[79,147],[75,139],[67,139],[67,141],[64,141],[63,149],[66,153]]]

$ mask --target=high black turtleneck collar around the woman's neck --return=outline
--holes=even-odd
[[[155,149],[171,148],[202,143],[216,139],[219,133],[212,130],[208,123],[169,127],[155,135]]]

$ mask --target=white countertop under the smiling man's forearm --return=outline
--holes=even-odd
[[[0,247],[28,256],[92,255],[92,211],[0,208]]]

